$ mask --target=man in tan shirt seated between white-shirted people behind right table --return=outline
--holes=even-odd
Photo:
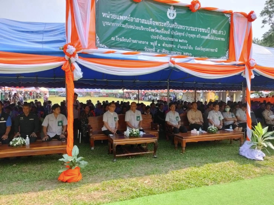
[[[203,126],[203,116],[202,112],[197,110],[198,106],[196,102],[191,103],[191,110],[187,112],[188,121],[191,130],[196,129],[199,130],[200,128],[204,128]]]

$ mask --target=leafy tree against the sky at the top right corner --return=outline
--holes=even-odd
[[[267,0],[265,2],[265,7],[260,13],[260,17],[263,17],[262,20],[263,26],[269,25],[270,29],[268,32],[262,36],[262,39],[254,38],[253,43],[256,43],[260,46],[274,47],[274,0]]]

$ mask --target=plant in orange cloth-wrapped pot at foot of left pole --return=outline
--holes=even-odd
[[[79,149],[76,145],[74,145],[72,149],[72,156],[65,154],[62,159],[59,159],[59,161],[65,162],[66,168],[58,171],[61,172],[58,180],[63,182],[78,182],[82,179],[80,169],[84,168],[88,162],[83,161],[83,157],[77,157],[78,154]]]

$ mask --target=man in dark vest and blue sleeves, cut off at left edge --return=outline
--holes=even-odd
[[[2,145],[9,144],[9,132],[12,125],[9,114],[5,113],[3,108],[4,104],[0,101],[0,142],[2,142]]]

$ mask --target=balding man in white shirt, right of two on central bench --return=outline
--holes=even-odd
[[[137,104],[132,102],[130,104],[130,110],[125,114],[125,122],[128,128],[132,129],[139,129],[140,131],[144,132],[142,128],[142,114],[141,111],[136,110]]]

